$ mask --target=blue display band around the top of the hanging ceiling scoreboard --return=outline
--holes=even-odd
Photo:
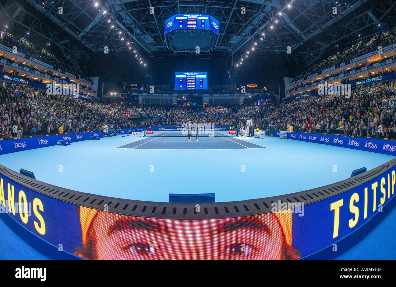
[[[176,14],[165,21],[164,34],[173,29],[206,29],[219,34],[219,21],[211,15]]]

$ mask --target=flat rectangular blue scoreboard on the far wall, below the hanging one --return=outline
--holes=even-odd
[[[175,72],[175,90],[207,90],[207,72]]]

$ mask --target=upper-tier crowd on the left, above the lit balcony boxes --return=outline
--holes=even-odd
[[[40,60],[46,64],[53,66],[54,70],[60,69],[63,72],[69,72],[70,74],[73,74],[80,79],[85,79],[93,84],[91,79],[89,79],[76,67],[72,66],[69,62],[65,61],[64,59],[58,59],[57,57],[55,57],[55,55],[49,53],[46,49],[36,47],[33,43],[29,42],[24,37],[11,34],[6,31],[0,31],[0,43],[10,48],[14,46],[17,47],[17,51],[25,54],[25,57],[27,59],[30,59],[30,57],[32,57],[34,59]],[[54,75],[51,73],[51,76]]]

